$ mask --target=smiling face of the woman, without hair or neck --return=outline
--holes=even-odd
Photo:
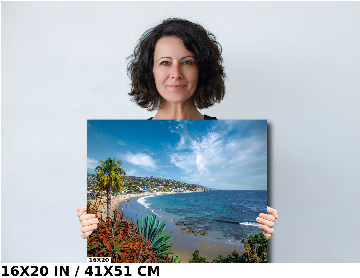
[[[183,103],[193,96],[199,69],[195,54],[176,37],[160,38],[155,46],[153,73],[159,94],[171,103]]]

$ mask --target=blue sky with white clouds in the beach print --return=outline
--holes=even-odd
[[[128,176],[266,189],[266,120],[87,120],[87,172],[108,157]]]

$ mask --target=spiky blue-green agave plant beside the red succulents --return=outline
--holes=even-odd
[[[164,258],[165,256],[172,254],[170,251],[173,249],[168,249],[168,247],[170,247],[172,243],[175,243],[168,242],[172,238],[169,236],[169,234],[171,234],[172,232],[162,233],[167,226],[165,225],[165,221],[160,224],[160,218],[157,220],[157,217],[155,215],[153,215],[151,219],[149,219],[149,217],[149,214],[145,215],[144,223],[143,214],[141,214],[140,216],[140,222],[138,215],[136,215],[139,233],[141,234],[141,236],[147,238],[150,241],[150,244],[153,247],[154,252],[156,252],[156,255],[159,258]]]

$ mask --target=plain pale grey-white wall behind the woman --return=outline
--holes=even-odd
[[[1,2],[1,263],[85,263],[86,119],[147,119],[125,58],[167,17],[223,47],[203,114],[268,120],[272,263],[360,262],[359,2]],[[21,256],[19,256],[21,254]]]

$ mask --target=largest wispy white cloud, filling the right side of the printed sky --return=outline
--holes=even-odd
[[[184,129],[171,151],[170,163],[183,170],[182,178],[187,182],[212,184],[216,188],[240,185],[244,189],[263,189],[266,186],[264,133],[230,136],[223,127],[221,131],[211,128],[206,136],[193,140]]]

